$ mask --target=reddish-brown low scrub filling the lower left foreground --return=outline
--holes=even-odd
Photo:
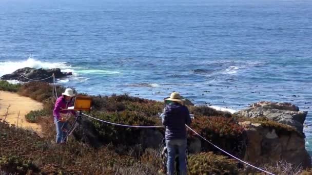
[[[5,173],[37,172],[36,167],[42,174],[118,174],[120,168],[133,166],[142,168],[142,172],[157,169],[152,163],[140,163],[132,156],[133,151],[119,155],[118,147],[111,145],[93,149],[72,137],[66,145],[57,145],[50,139],[1,121],[0,133],[0,169]]]

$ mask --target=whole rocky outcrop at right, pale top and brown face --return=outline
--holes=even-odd
[[[247,118],[265,117],[279,123],[287,124],[297,130],[280,132],[274,127],[261,123],[245,121],[247,147],[244,159],[254,164],[276,163],[284,160],[303,168],[311,167],[311,157],[305,149],[303,122],[306,112],[290,103],[258,102],[251,108],[236,113]]]

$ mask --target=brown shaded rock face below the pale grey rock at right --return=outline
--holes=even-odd
[[[301,134],[295,131],[278,133],[275,129],[249,121],[241,125],[245,127],[247,135],[245,161],[262,165],[283,160],[295,166],[311,167],[311,157]]]

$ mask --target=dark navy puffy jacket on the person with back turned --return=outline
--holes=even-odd
[[[166,126],[165,139],[186,139],[186,126],[191,124],[188,108],[179,103],[167,104],[161,115]]]

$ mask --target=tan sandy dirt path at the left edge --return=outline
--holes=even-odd
[[[31,128],[37,133],[41,133],[41,126],[36,123],[27,122],[25,120],[25,115],[30,111],[42,109],[42,103],[32,100],[29,97],[23,97],[15,93],[0,91],[0,119],[5,119],[8,106],[10,107],[6,118],[7,122],[15,125],[18,124],[18,127]]]

